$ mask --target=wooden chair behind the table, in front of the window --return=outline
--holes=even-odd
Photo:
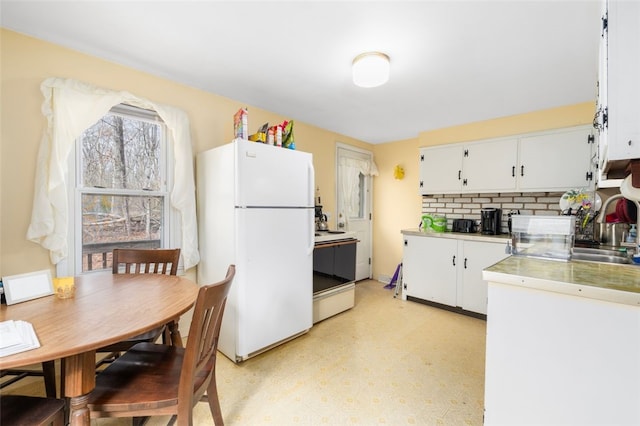
[[[178,261],[180,249],[114,249],[113,266],[114,274],[165,274],[176,275],[178,273]],[[178,330],[178,319],[171,321],[166,326],[157,327],[151,331],[134,336],[122,342],[102,347],[96,352],[108,352],[110,355],[100,360],[97,364],[112,362],[121,352],[125,352],[137,343],[155,342],[160,336],[166,344],[182,346],[182,338]]]

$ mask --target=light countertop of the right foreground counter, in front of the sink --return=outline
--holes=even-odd
[[[640,266],[509,256],[482,272],[485,281],[640,306]]]

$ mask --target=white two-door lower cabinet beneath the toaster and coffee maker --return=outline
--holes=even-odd
[[[487,283],[482,270],[507,256],[504,242],[404,235],[404,294],[486,314]]]

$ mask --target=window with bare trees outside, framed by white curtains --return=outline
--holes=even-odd
[[[165,135],[154,111],[121,104],[76,141],[76,273],[111,269],[116,247],[167,246]]]

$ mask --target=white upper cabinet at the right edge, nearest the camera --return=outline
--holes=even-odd
[[[600,168],[640,159],[640,2],[605,1],[598,76]],[[606,117],[606,118],[605,118]]]

